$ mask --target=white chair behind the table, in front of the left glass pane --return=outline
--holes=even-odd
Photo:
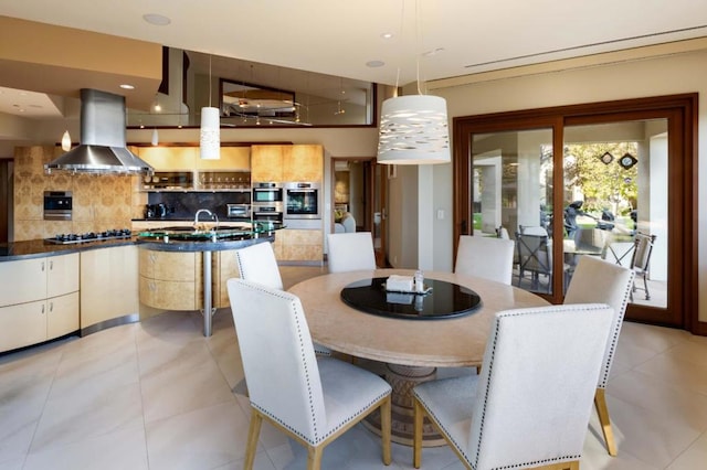
[[[461,235],[454,273],[510,286],[515,247],[511,239]]]

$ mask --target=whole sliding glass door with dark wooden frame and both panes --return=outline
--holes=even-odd
[[[454,239],[507,234],[514,286],[555,303],[582,256],[631,267],[626,318],[698,328],[696,103],[677,95],[455,118]]]

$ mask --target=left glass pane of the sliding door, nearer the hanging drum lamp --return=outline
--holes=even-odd
[[[471,232],[516,242],[513,282],[552,293],[552,129],[474,133]],[[560,264],[561,266],[561,264]]]

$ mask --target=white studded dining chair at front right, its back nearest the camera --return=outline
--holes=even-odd
[[[473,470],[579,469],[612,308],[548,306],[496,313],[481,375],[413,388],[413,464],[432,425]]]

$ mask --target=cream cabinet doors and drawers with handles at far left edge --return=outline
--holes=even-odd
[[[0,351],[77,330],[77,253],[0,263]]]

